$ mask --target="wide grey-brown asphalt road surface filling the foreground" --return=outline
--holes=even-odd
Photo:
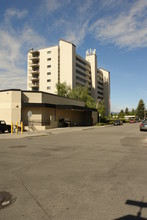
[[[147,219],[147,132],[68,129],[0,139],[0,219]]]

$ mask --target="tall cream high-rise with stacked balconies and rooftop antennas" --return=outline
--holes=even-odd
[[[27,89],[57,94],[56,84],[87,86],[96,102],[104,99],[110,114],[110,72],[98,69],[96,50],[87,50],[85,59],[76,46],[65,40],[59,45],[28,52]]]

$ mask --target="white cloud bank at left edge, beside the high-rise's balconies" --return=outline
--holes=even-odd
[[[45,46],[45,39],[28,25],[19,31],[13,28],[8,18],[16,14],[16,17],[22,17],[21,11],[9,9],[6,14],[7,19],[5,17],[0,24],[0,89],[26,89],[27,52],[32,47]],[[5,22],[8,21],[9,28],[6,29]]]

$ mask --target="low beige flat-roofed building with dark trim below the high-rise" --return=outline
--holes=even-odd
[[[37,129],[62,126],[62,122],[84,126],[97,123],[97,110],[86,108],[83,101],[60,97],[46,92],[0,91],[0,120]]]

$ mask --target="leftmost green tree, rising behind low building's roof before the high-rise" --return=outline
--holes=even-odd
[[[68,97],[69,93],[70,93],[70,90],[71,90],[70,86],[68,86],[66,84],[66,82],[64,82],[64,83],[58,82],[56,84],[56,89],[57,89],[57,94],[59,96],[64,96],[64,97]]]

